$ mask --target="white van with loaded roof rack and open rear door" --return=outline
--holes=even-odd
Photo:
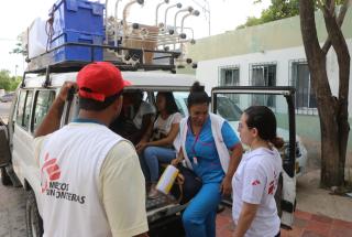
[[[67,68],[65,69],[67,71]],[[40,170],[34,160],[33,140],[34,131],[48,111],[55,96],[58,94],[64,82],[75,82],[77,72],[70,73],[48,73],[50,71],[35,71],[32,74],[25,74],[21,87],[16,91],[13,100],[12,109],[9,116],[7,127],[2,125],[0,130],[0,168],[2,179],[7,179],[4,184],[14,183],[16,179],[28,192],[26,203],[26,224],[29,236],[40,236],[43,233],[42,227],[42,205],[41,205],[41,180]],[[59,72],[59,69],[57,69]],[[33,74],[34,73],[34,74]],[[123,78],[132,83],[127,90],[139,89],[144,91],[144,98],[155,105],[155,93],[173,91],[176,99],[178,94],[186,94],[195,82],[195,77],[190,75],[177,75],[165,72],[123,72]],[[272,88],[262,91],[260,89],[250,90],[248,88],[213,88],[212,90],[212,110],[217,110],[219,96],[228,96],[232,94],[271,94],[287,99],[286,112],[287,125],[289,131],[289,144],[284,149],[284,183],[278,188],[278,206],[282,212],[282,220],[286,226],[293,224],[293,213],[295,211],[296,198],[296,180],[295,180],[295,125],[294,108],[290,103],[294,96],[292,88]],[[185,99],[185,98],[183,98]],[[178,100],[178,99],[177,99]],[[294,100],[292,100],[294,101]],[[244,101],[243,101],[244,103]],[[180,110],[187,111],[186,104],[178,100]],[[62,117],[61,127],[70,122],[78,114],[77,95],[74,95],[70,101],[67,101]],[[243,104],[249,106],[250,103]],[[231,108],[229,108],[231,109]],[[285,108],[280,108],[285,110]],[[234,128],[237,129],[237,128]],[[6,136],[6,132],[9,136]],[[14,171],[11,172],[11,171]],[[150,224],[151,236],[183,236],[183,227],[180,214],[187,204],[180,205],[170,202],[169,198],[161,197],[154,201],[146,201],[147,218]],[[173,229],[173,230],[170,230]],[[175,230],[174,230],[175,229]]]

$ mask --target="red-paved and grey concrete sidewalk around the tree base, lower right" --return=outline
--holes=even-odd
[[[352,198],[319,188],[319,179],[320,170],[297,179],[294,226],[282,229],[282,237],[352,237]],[[230,237],[233,229],[231,209],[226,208],[217,216],[217,236]]]

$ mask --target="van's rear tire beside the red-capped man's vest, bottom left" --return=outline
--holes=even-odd
[[[35,195],[33,191],[28,192],[25,206],[25,223],[28,237],[43,236],[43,220],[37,211]]]

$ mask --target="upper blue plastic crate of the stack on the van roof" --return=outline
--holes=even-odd
[[[105,4],[87,0],[57,1],[52,9],[54,37],[66,31],[105,35],[103,9]]]

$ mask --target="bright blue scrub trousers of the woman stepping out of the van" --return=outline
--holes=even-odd
[[[220,183],[206,183],[201,186],[183,215],[187,237],[216,236],[217,207],[220,201]]]

